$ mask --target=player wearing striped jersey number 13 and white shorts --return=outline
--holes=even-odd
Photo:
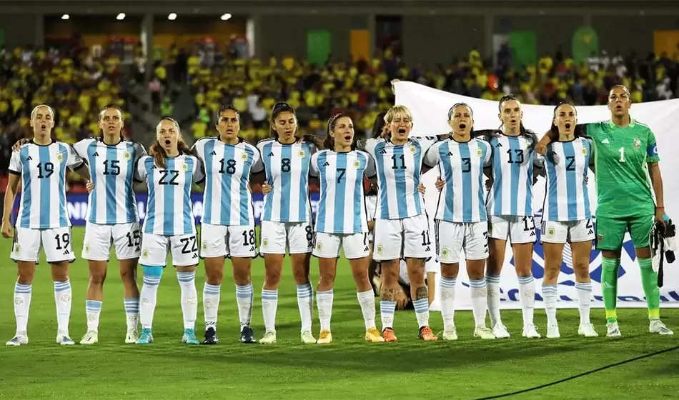
[[[540,334],[533,324],[535,281],[531,271],[536,238],[532,185],[537,138],[523,127],[523,111],[515,96],[502,97],[498,109],[502,126],[500,131],[493,131],[487,137],[492,148],[492,188],[486,201],[490,216],[490,252],[486,270],[490,322],[495,337],[510,336],[500,319],[500,272],[505,264],[505,248],[509,239],[519,280],[522,336],[539,338]]]

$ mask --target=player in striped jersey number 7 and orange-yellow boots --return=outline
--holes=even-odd
[[[318,257],[320,272],[316,296],[321,333],[317,343],[332,342],[332,286],[340,247],[356,283],[365,340],[382,342],[385,339],[375,328],[375,294],[368,280],[370,247],[363,188],[364,176],[375,178],[375,162],[369,154],[355,150],[354,125],[344,114],[336,114],[328,121],[324,147],[311,159],[311,174],[320,179],[313,252]]]

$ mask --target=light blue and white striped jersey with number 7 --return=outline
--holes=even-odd
[[[375,161],[363,151],[321,150],[311,159],[320,194],[315,231],[326,234],[367,233],[363,177],[375,176]]]

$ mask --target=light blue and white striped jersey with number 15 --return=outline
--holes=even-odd
[[[139,222],[134,194],[134,169],[147,155],[144,146],[121,140],[109,146],[100,138],[83,139],[73,145],[89,169],[94,190],[87,198],[86,221],[113,225]]]

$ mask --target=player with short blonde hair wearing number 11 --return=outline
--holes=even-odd
[[[393,322],[396,308],[399,260],[405,257],[420,339],[435,341],[429,327],[429,300],[425,285],[425,259],[432,245],[424,201],[417,193],[422,157],[435,138],[409,138],[412,114],[394,106],[385,115],[386,139],[367,139],[359,145],[375,159],[379,193],[375,213],[375,252],[382,264],[380,314],[385,341],[397,341]]]

